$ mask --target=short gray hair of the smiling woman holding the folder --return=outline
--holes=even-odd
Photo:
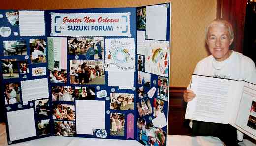
[[[232,25],[222,19],[222,18],[217,18],[217,19],[214,19],[205,29],[205,40],[208,40],[208,31],[209,31],[209,28],[212,27],[214,24],[223,24],[227,29],[228,29],[228,34],[229,34],[229,38],[230,40],[234,39],[234,30],[233,30],[233,27]]]

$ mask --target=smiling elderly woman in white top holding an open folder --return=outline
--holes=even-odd
[[[208,25],[205,35],[211,55],[197,63],[194,74],[239,79],[256,84],[255,63],[229,48],[233,40],[232,25],[224,19],[213,20]],[[193,91],[186,90],[183,97],[184,101],[189,102],[196,95]],[[219,137],[226,146],[236,146],[237,138],[242,140],[243,134],[229,124],[193,121],[190,126],[193,135]]]

